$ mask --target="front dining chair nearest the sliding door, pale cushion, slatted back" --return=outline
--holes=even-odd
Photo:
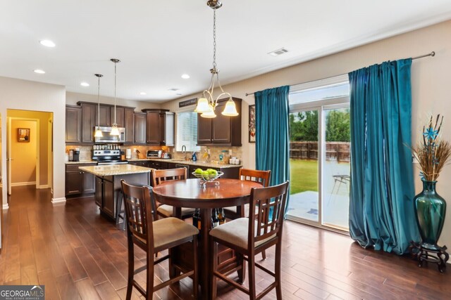
[[[280,256],[282,249],[283,215],[285,213],[287,191],[289,182],[274,185],[267,188],[252,188],[250,211],[257,211],[257,214],[249,214],[249,218],[232,220],[221,226],[210,230],[211,249],[213,249],[213,279],[211,297],[216,298],[217,280],[221,279],[240,291],[249,295],[249,299],[260,299],[268,294],[271,289],[276,288],[277,299],[282,299],[282,289],[280,287]],[[269,216],[266,218],[266,216]],[[242,255],[248,263],[249,289],[238,284],[228,277],[235,269],[244,268],[243,264],[234,270],[221,268],[218,266],[218,244],[223,244],[235,252]],[[276,257],[274,270],[261,266],[255,261],[255,255],[268,249],[276,247]],[[257,295],[255,289],[255,267],[272,275],[274,282],[268,285]]]

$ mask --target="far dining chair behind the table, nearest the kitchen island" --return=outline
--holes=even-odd
[[[178,169],[161,169],[161,170],[152,170],[152,186],[157,186],[165,181],[172,180],[184,180],[187,179],[187,170],[186,168],[178,168]],[[156,203],[156,213],[162,218],[168,218],[173,216],[173,207],[171,205],[160,205]],[[181,219],[187,219],[192,217],[195,209],[182,207],[182,215]]]

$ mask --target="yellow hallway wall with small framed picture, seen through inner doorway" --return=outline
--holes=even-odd
[[[30,141],[18,141],[18,129],[30,129]],[[11,184],[36,184],[37,121],[11,119]]]

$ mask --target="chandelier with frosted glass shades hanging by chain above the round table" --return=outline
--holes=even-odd
[[[219,70],[216,68],[216,9],[221,8],[223,4],[220,0],[209,0],[206,2],[206,5],[213,9],[213,68],[210,69],[210,86],[202,93],[203,97],[197,101],[197,106],[194,112],[201,113],[200,116],[204,118],[214,118],[216,117],[214,110],[218,105],[218,100],[222,96],[228,96],[228,101],[226,103],[226,107],[224,107],[222,115],[235,117],[238,115],[237,107],[235,106],[235,102],[233,102],[230,93],[227,93],[223,90],[221,82],[219,81]],[[216,81],[218,82],[219,89],[221,89],[221,93],[215,99],[213,92]]]

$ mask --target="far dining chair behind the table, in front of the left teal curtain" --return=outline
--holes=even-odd
[[[264,187],[267,187],[269,185],[270,178],[271,170],[261,171],[240,168],[240,171],[238,173],[238,179],[258,182],[261,183],[261,185],[263,185]],[[246,204],[241,207],[226,207],[224,208],[224,211],[228,219],[235,220],[238,218],[244,218],[245,216],[247,216],[247,214],[249,214],[249,205]],[[263,259],[266,259],[266,252],[261,252],[261,257]]]

